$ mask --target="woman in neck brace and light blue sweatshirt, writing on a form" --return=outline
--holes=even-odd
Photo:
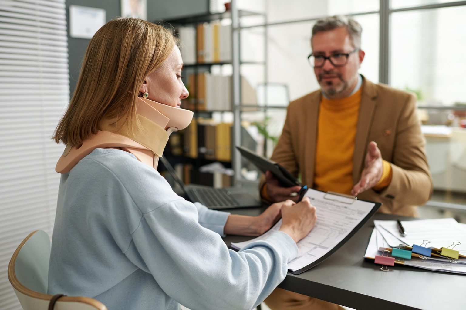
[[[192,204],[158,173],[171,132],[193,113],[178,41],[163,27],[119,18],[90,40],[76,91],[53,139],[66,145],[48,293],[93,297],[109,310],[252,309],[284,279],[315,223],[304,200],[258,217]],[[264,241],[235,252],[225,234]]]

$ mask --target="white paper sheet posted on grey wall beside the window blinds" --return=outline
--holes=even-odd
[[[69,35],[90,39],[105,24],[106,11],[94,7],[69,6]]]

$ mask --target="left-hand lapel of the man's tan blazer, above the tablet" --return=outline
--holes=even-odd
[[[317,144],[317,125],[319,121],[319,106],[321,101],[321,92],[316,91],[309,94],[308,108],[306,113],[306,134],[304,135],[304,145],[302,154],[303,169],[306,171],[306,175],[302,176],[304,185],[311,187],[314,185],[314,167],[315,167],[315,146]]]

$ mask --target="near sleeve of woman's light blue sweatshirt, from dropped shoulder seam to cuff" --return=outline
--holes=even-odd
[[[202,227],[193,204],[173,201],[145,212],[128,257],[167,295],[191,309],[252,309],[285,278],[295,242],[277,231],[235,252]]]

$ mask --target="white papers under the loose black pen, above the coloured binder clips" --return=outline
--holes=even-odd
[[[441,247],[450,247],[453,242],[458,241],[461,244],[456,245],[453,249],[466,255],[466,231],[464,225],[459,224],[454,218],[401,221],[406,231],[406,237],[400,236],[396,221],[375,220],[374,224],[387,243],[390,244],[390,247],[397,247],[401,243],[409,246],[421,245],[423,240],[428,240],[431,243],[427,244],[427,247],[440,249]]]

